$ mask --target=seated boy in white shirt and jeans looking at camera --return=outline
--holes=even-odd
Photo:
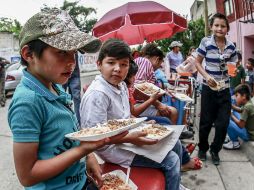
[[[131,117],[126,78],[131,50],[127,44],[117,39],[106,41],[99,52],[97,65],[101,75],[88,87],[81,100],[81,127],[91,127],[110,119]],[[137,146],[151,145],[157,140],[145,138],[146,133],[129,133],[115,144],[132,143]],[[161,163],[144,156],[110,145],[96,151],[106,162],[123,166],[140,166],[160,169],[165,175],[166,190],[179,190],[181,143],[178,141]],[[144,179],[145,181],[145,179]]]

